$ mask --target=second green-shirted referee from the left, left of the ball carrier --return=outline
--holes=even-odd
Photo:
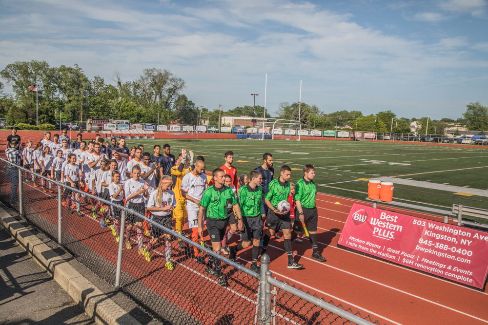
[[[247,185],[241,186],[237,192],[237,202],[241,208],[244,221],[244,230],[241,230],[241,240],[239,245],[230,248],[229,259],[234,261],[238,251],[248,248],[252,241],[252,264],[251,270],[260,273],[258,267],[259,241],[263,234],[263,219],[261,217],[263,209],[263,199],[261,182],[263,175],[256,170],[249,174],[251,180]]]

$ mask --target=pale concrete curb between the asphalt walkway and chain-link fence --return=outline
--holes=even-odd
[[[83,306],[85,312],[95,320],[96,324],[141,325],[1,208],[0,222],[7,233],[34,258],[41,268],[50,273],[76,303]]]

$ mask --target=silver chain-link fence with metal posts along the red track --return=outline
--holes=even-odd
[[[260,275],[173,231],[171,221],[158,224],[7,165],[0,158],[0,201],[163,324],[371,324],[361,323],[359,313],[272,279],[267,255]]]

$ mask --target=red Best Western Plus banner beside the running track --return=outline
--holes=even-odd
[[[488,233],[354,204],[338,245],[483,289]]]

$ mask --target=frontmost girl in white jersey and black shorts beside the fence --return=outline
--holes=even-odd
[[[151,159],[151,156],[149,156]],[[173,214],[171,211],[176,207],[175,193],[171,190],[173,180],[171,176],[164,175],[161,178],[158,189],[153,191],[147,201],[147,210],[151,213],[151,219],[164,228],[172,229]],[[152,238],[143,249],[144,257],[147,262],[151,261],[150,250],[153,245],[159,242],[161,236],[164,237],[164,257],[166,263],[164,266],[172,271],[174,270],[173,263],[171,263],[171,235],[163,232],[163,229],[151,225]]]

